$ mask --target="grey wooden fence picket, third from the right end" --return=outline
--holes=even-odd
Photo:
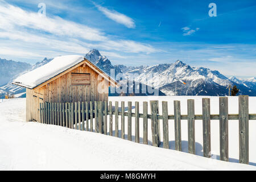
[[[203,152],[204,157],[210,158],[210,98],[202,99],[203,109]]]

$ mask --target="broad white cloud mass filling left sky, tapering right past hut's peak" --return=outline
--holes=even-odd
[[[10,50],[15,51],[19,48],[20,51],[15,55],[22,56],[22,49],[24,52],[34,51],[31,59],[37,59],[43,54],[44,57],[56,54],[67,55],[67,53],[84,54],[92,48],[108,52],[147,54],[158,52],[148,44],[113,38],[97,28],[65,20],[59,16],[47,14],[46,17],[40,17],[37,12],[20,9],[2,0],[0,0],[0,40],[0,45],[9,47],[9,51],[5,54],[1,51],[2,55],[11,56]],[[121,59],[120,56],[119,58]]]

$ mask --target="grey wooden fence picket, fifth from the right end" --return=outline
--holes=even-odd
[[[180,101],[174,101],[175,150],[181,151]]]

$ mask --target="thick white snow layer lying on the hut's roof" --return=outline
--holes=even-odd
[[[66,69],[71,68],[73,65],[80,63],[82,60],[84,60],[84,57],[79,55],[59,56],[42,67],[19,76],[14,82],[34,88],[59,73],[64,72]]]

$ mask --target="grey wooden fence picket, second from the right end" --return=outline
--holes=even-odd
[[[220,160],[229,161],[228,97],[220,97]]]

